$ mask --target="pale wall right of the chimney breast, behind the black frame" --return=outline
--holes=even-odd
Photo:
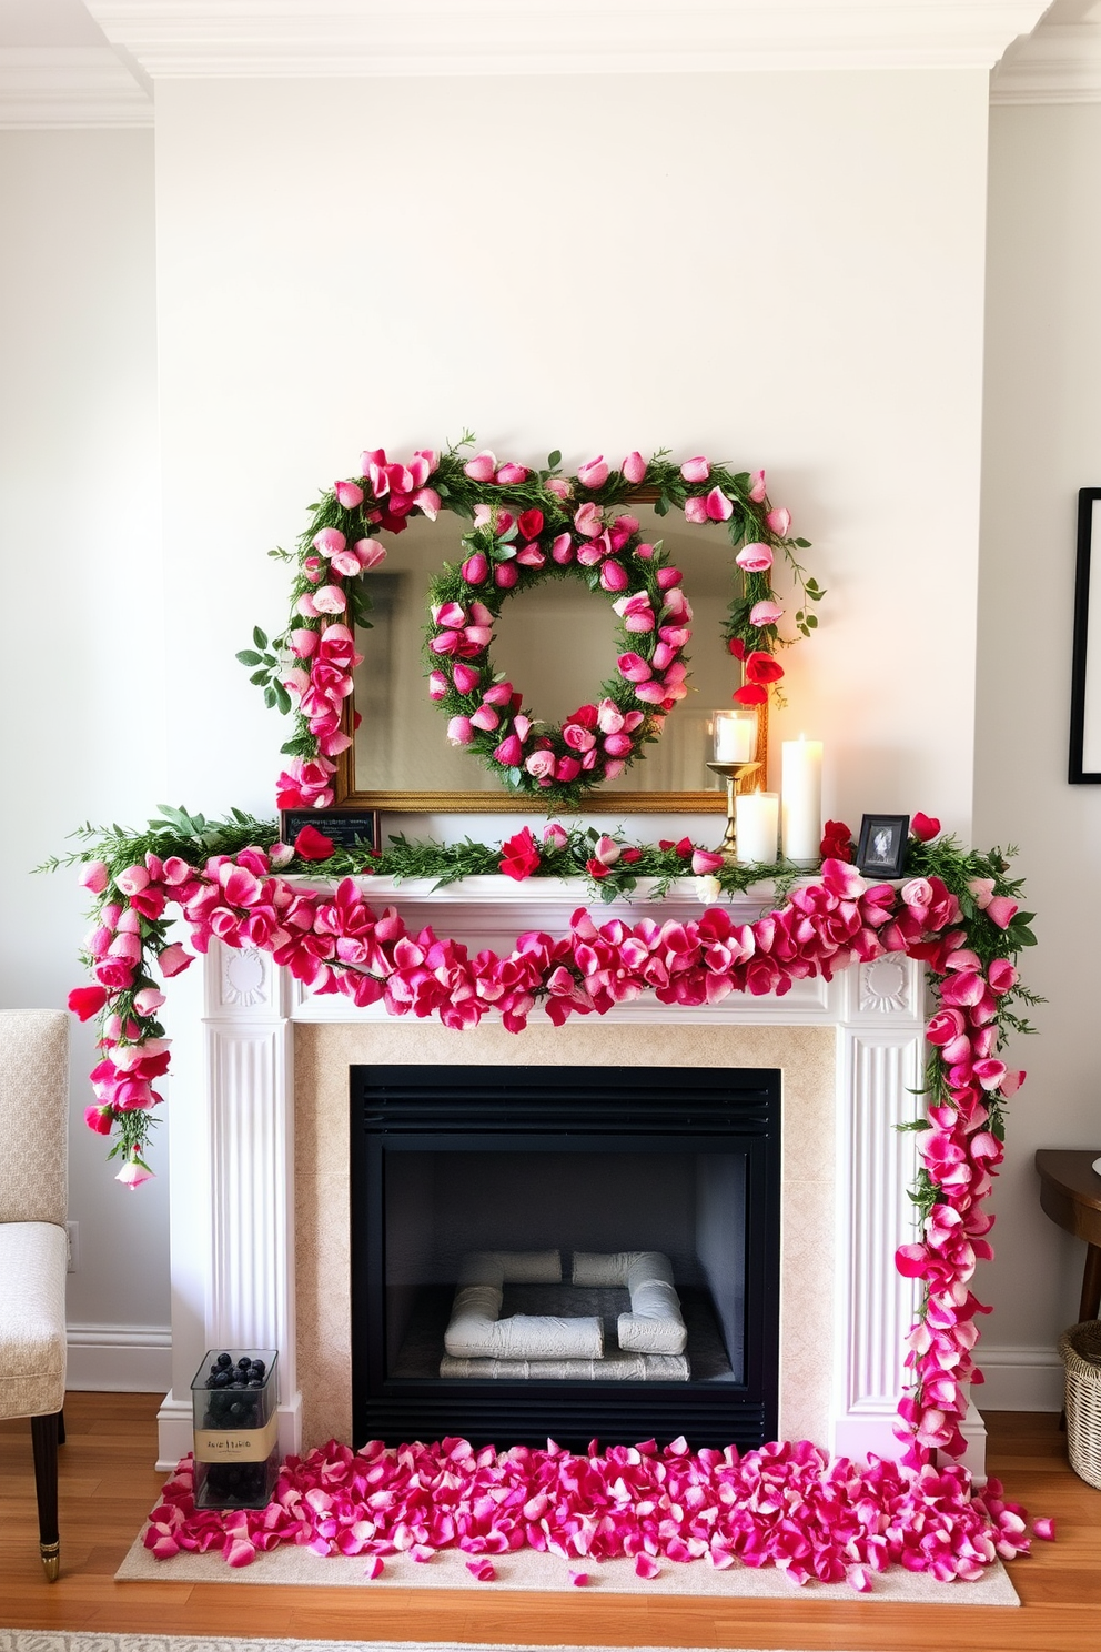
[[[976,836],[1020,847],[1048,999],[1014,1051],[1028,1084],[981,1282],[1005,1406],[1058,1404],[1051,1348],[1081,1289],[1084,1246],[1042,1214],[1033,1153],[1101,1151],[1101,788],[1066,783],[1078,489],[1101,484],[1099,190],[1101,104],[992,111]]]

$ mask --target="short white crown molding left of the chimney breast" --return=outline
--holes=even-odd
[[[152,97],[111,46],[0,48],[0,131],[152,124]]]

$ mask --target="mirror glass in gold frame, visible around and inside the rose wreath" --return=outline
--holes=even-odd
[[[688,695],[670,712],[662,737],[645,747],[617,780],[594,796],[616,793],[715,791],[706,768],[711,755],[710,714],[730,705],[741,667],[721,639],[733,595],[735,550],[720,525],[688,527],[683,517],[662,519],[652,506],[624,506],[639,517],[644,539],[664,540],[683,572],[692,603]],[[355,709],[361,715],[353,748],[357,793],[474,791],[510,796],[495,775],[469,752],[447,740],[447,719],[428,697],[424,623],[428,585],[444,562],[459,562],[464,522],[441,515],[416,517],[404,534],[383,534],[386,562],[366,575],[375,601],[371,629],[357,631],[363,664],[355,671]],[[548,580],[512,596],[495,626],[492,659],[515,689],[525,710],[545,722],[561,722],[598,697],[614,676],[616,615],[602,593],[579,580]]]

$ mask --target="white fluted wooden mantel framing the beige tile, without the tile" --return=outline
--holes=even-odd
[[[472,877],[444,889],[429,881],[360,882],[376,910],[393,904],[409,930],[431,923],[472,950],[507,950],[525,930],[560,935],[583,905],[598,922],[683,920],[702,910],[693,879],[678,881],[664,900],[649,899],[650,885],[640,881],[631,900],[607,904],[594,902],[579,879]],[[771,885],[723,902],[736,922],[753,922],[773,904]],[[390,1019],[383,1004],[358,1009],[338,995],[314,996],[269,955],[216,942],[201,980],[200,971],[191,975],[193,981],[182,978],[187,985],[172,1006],[173,1386],[160,1409],[162,1469],[190,1450],[188,1384],[213,1346],[277,1348],[281,1446],[287,1452],[317,1444],[302,1439],[295,1343],[294,1029]],[[916,1150],[913,1132],[895,1127],[918,1105],[924,1019],[921,966],[901,955],[853,966],[829,983],[796,981],[784,996],[731,993],[721,1004],[682,1008],[647,995],[601,1018],[639,1028],[698,1026],[700,1041],[706,1028],[835,1029],[835,1130],[820,1143],[834,1188],[832,1232],[822,1241],[835,1257],[829,1439],[820,1444],[847,1455],[890,1457],[901,1449],[893,1424],[916,1285],[898,1275],[893,1257],[913,1239],[908,1188]],[[532,1024],[541,1021],[536,1009]],[[555,1034],[563,1059],[571,1026]],[[969,1467],[981,1472],[984,1431],[974,1408],[966,1432]]]

